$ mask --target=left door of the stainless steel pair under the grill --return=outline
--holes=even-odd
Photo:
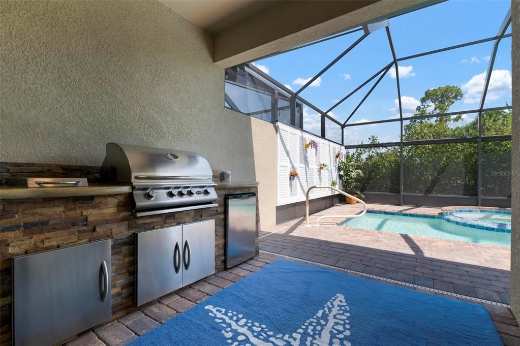
[[[183,286],[183,227],[136,233],[135,300],[142,305]]]

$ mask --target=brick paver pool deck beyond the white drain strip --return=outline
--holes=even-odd
[[[438,208],[368,207],[430,215],[440,212]],[[353,215],[358,209],[360,205],[335,206],[309,219],[313,223],[322,215]],[[279,224],[261,233],[260,249],[509,304],[509,247],[339,227],[340,221],[324,219],[321,227],[310,228],[305,227],[305,218]]]

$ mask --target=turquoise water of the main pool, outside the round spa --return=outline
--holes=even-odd
[[[420,218],[367,212],[367,214],[362,217],[347,219],[340,225],[366,230],[422,235],[480,244],[511,246],[511,234],[509,233],[465,227],[449,223],[441,217]]]

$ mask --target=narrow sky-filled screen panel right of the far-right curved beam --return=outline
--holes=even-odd
[[[484,85],[485,77],[486,71],[483,71],[474,77],[473,83]],[[498,45],[484,108],[511,105],[511,80],[511,37],[506,37]]]

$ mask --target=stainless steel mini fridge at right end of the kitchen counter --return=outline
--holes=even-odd
[[[256,194],[226,195],[226,268],[256,254]]]

